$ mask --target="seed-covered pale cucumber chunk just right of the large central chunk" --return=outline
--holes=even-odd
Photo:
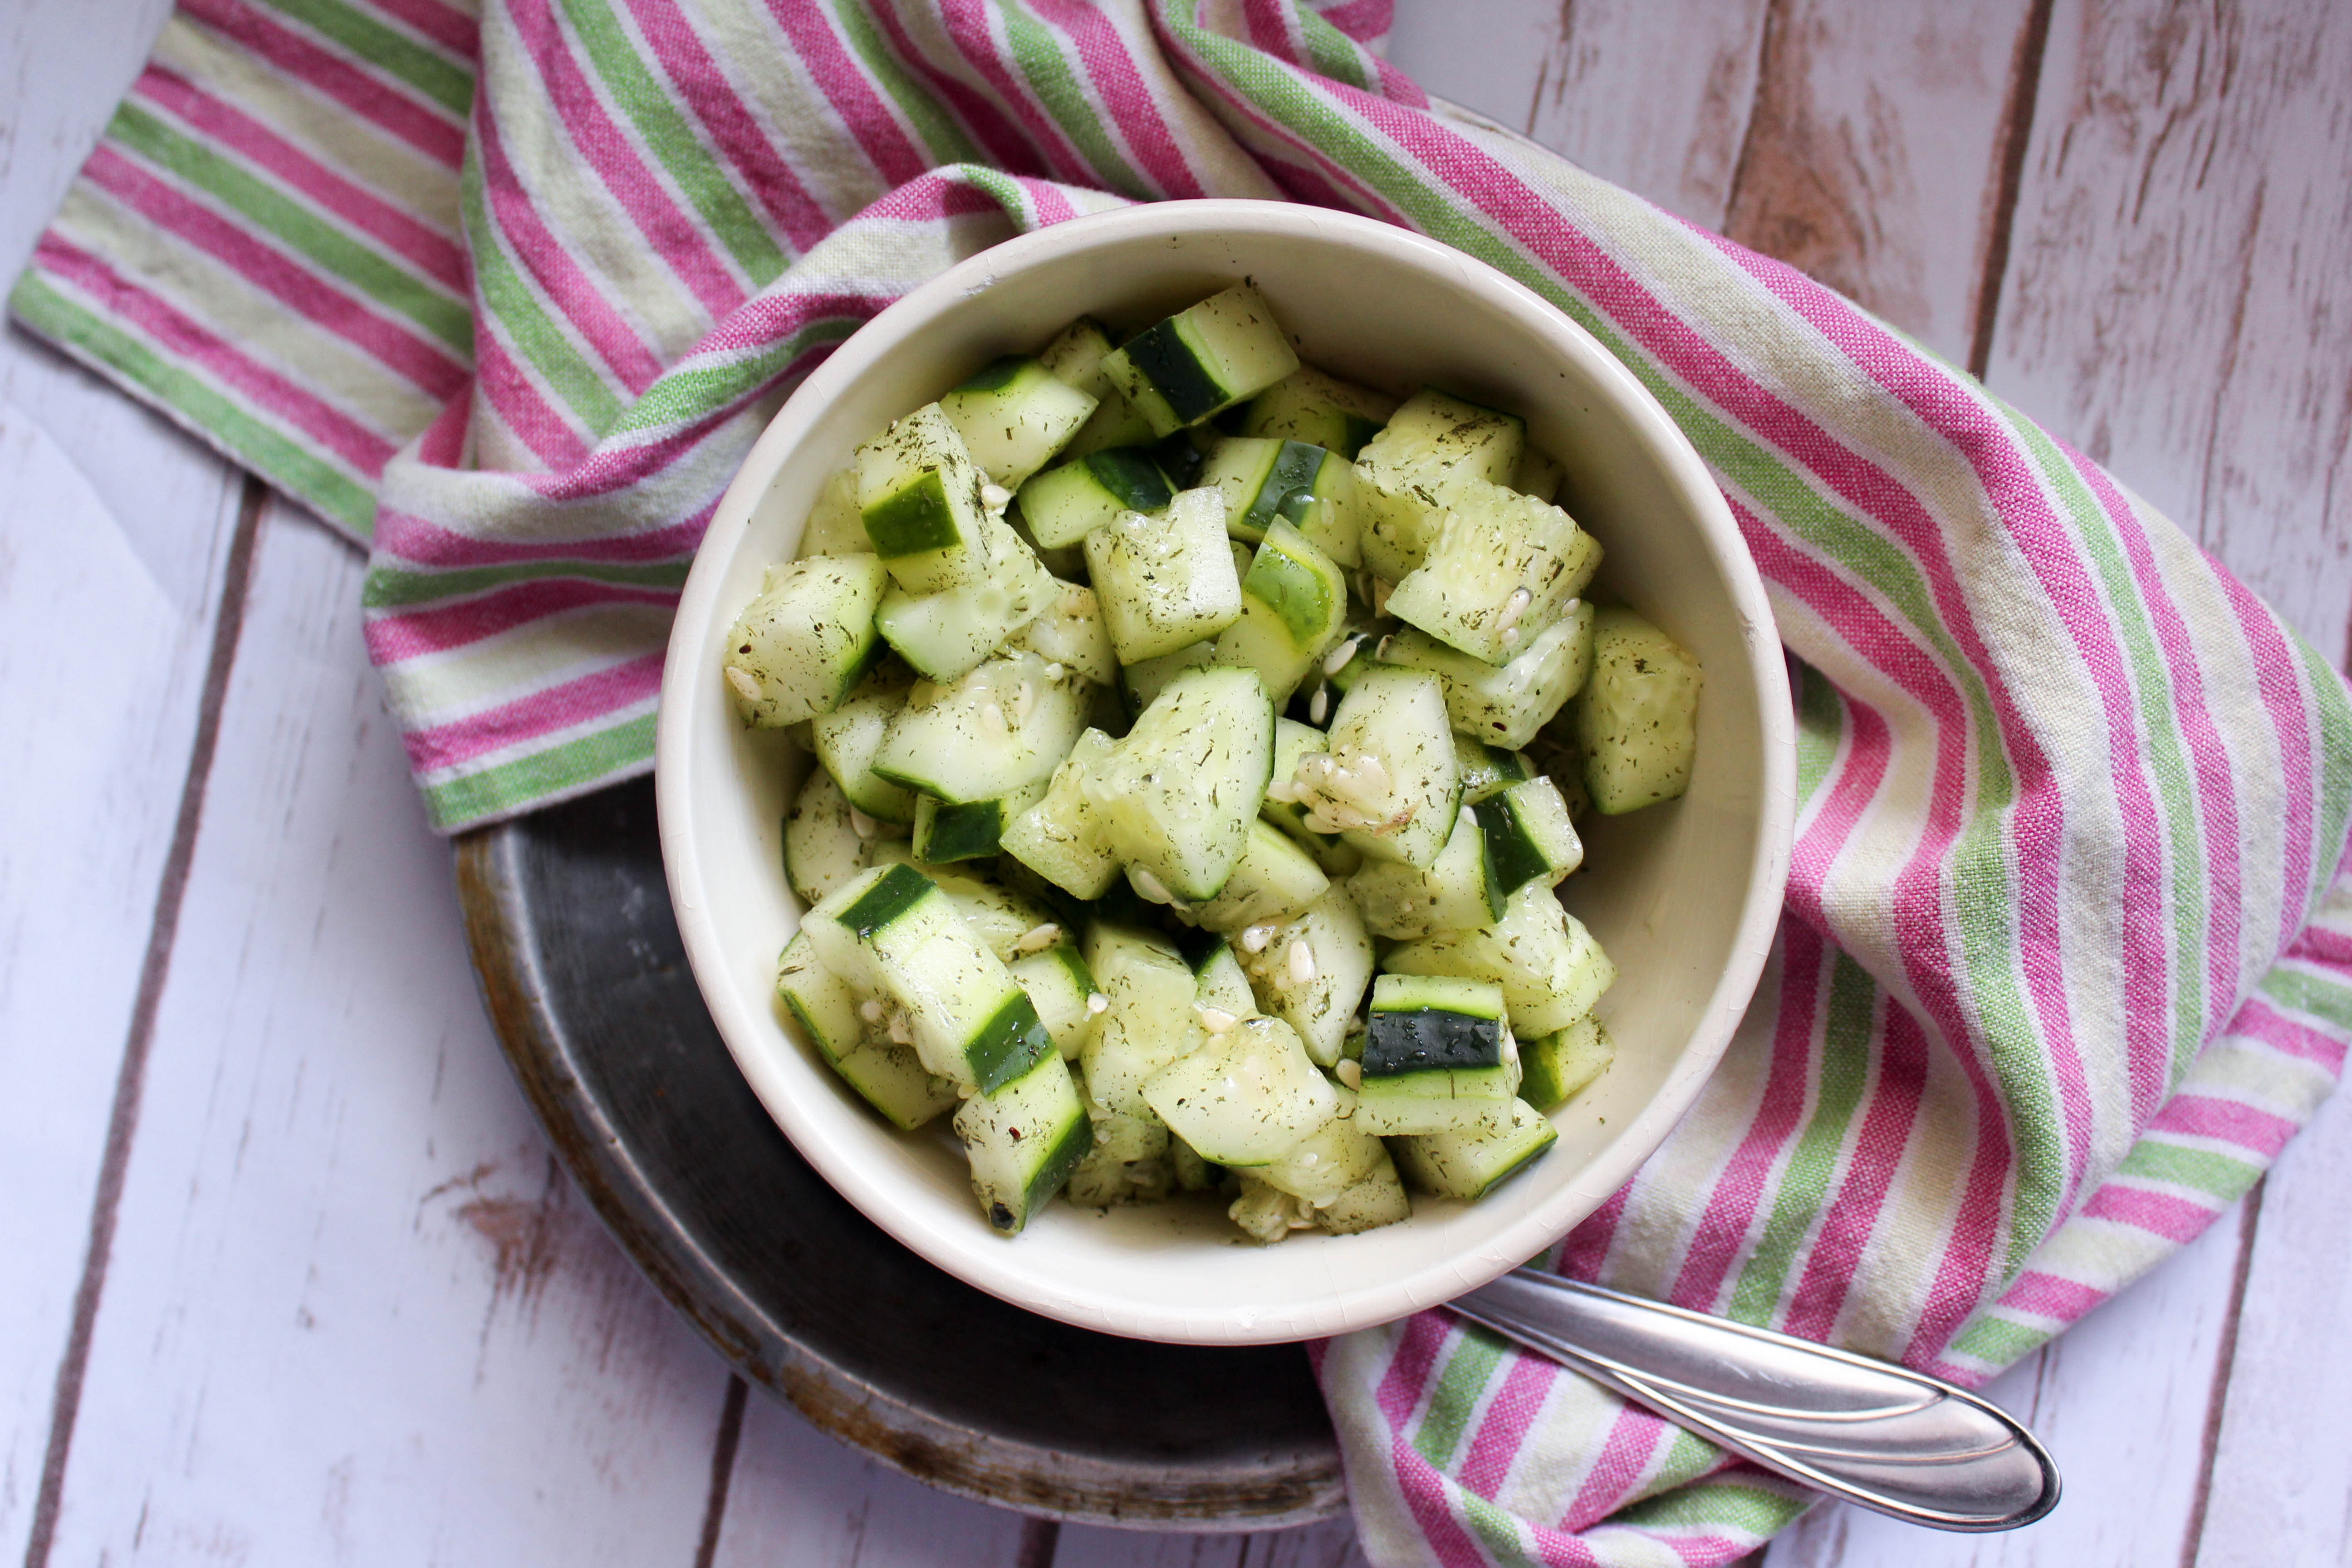
[[[1425,670],[1364,670],[1324,736],[1284,783],[1308,809],[1308,827],[1338,827],[1376,860],[1428,870],[1454,835],[1461,776],[1446,693]]]

